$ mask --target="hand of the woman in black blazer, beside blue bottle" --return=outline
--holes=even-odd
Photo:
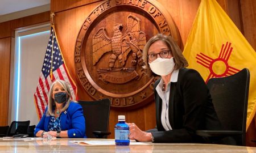
[[[146,132],[142,131],[134,123],[127,123],[127,124],[129,125],[129,128],[130,128],[129,138],[131,140],[144,141],[144,142],[152,141],[151,133],[146,133]]]

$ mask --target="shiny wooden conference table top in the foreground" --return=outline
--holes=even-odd
[[[199,143],[137,143],[130,146],[86,145],[81,142],[110,142],[114,139],[22,139],[0,138],[0,152],[256,152],[256,147],[213,145]],[[80,143],[75,143],[80,142]]]

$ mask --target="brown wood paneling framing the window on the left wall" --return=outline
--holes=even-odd
[[[14,37],[15,29],[46,23],[49,20],[48,11],[0,23],[0,126],[8,124],[9,87],[13,81],[10,80],[11,39]]]

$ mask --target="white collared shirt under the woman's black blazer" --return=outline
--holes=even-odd
[[[161,122],[163,128],[168,131],[172,130],[169,121],[169,98],[170,98],[170,89],[171,89],[171,82],[177,82],[177,76],[179,75],[179,70],[174,70],[171,75],[170,82],[167,85],[166,92],[163,92],[163,79],[160,80],[158,86],[156,86],[156,92],[162,99],[162,112],[161,112]]]

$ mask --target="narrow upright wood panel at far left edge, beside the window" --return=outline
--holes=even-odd
[[[8,124],[11,37],[0,39],[0,126]]]

